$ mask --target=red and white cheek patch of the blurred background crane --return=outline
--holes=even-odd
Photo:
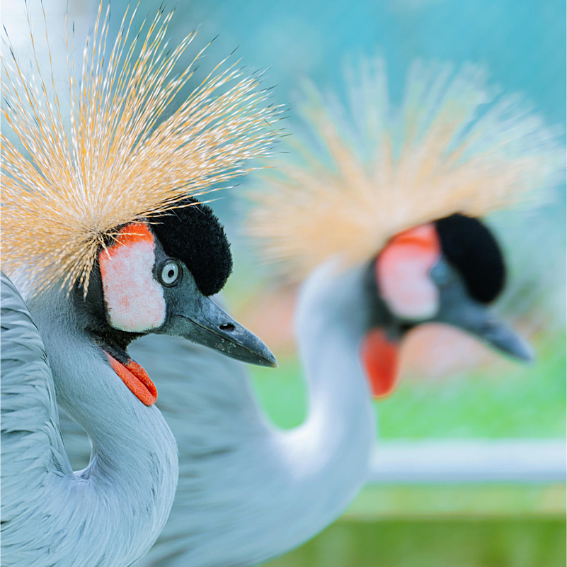
[[[412,320],[437,313],[439,294],[429,271],[440,256],[433,224],[401,232],[384,247],[375,264],[376,281],[392,313]]]

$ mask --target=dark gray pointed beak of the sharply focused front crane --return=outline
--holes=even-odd
[[[178,309],[172,310],[162,333],[184,337],[242,362],[277,366],[270,349],[212,299],[202,295],[193,296],[190,305],[181,307],[178,305]]]

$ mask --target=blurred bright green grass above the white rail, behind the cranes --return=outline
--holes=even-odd
[[[280,368],[252,367],[258,400],[280,427],[307,412],[306,384],[294,357]],[[382,439],[564,437],[565,337],[537,344],[531,365],[505,361],[439,380],[406,376],[390,398],[375,403]]]

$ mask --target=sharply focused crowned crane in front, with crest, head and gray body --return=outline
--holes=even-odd
[[[130,41],[134,16],[125,15],[108,52],[100,6],[80,82],[69,74],[70,137],[40,66],[38,88],[13,51],[4,59],[3,126],[23,150],[2,133],[2,261],[26,297],[2,274],[6,567],[130,566],[164,527],[176,441],[154,382],[127,352],[132,339],[177,335],[275,365],[210,298],[230,274],[231,252],[196,195],[268,155],[277,111],[257,79],[235,81],[234,69],[168,111],[191,71],[168,74],[195,35],[168,51],[172,16],[161,11]],[[69,464],[57,404],[91,439],[82,471]]]

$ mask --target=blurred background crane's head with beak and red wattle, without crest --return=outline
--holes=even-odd
[[[496,238],[480,220],[450,215],[394,236],[372,261],[374,302],[362,360],[377,397],[394,390],[403,335],[428,322],[469,332],[500,352],[529,361],[532,351],[488,308],[505,286]]]

